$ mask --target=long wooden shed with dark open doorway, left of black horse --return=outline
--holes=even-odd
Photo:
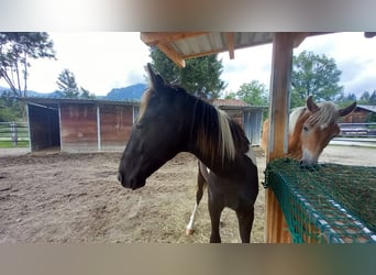
[[[130,138],[139,102],[25,98],[30,150],[119,151]]]

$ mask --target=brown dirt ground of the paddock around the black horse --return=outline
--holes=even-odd
[[[255,151],[263,180],[265,157],[259,148]],[[180,153],[154,173],[144,188],[134,191],[117,180],[120,157],[121,152],[0,151],[0,243],[209,242],[207,195],[199,207],[195,234],[185,234],[195,205],[195,156]],[[372,166],[375,160],[375,148],[345,146],[329,146],[320,158]],[[251,237],[255,243],[264,242],[262,185],[259,189]],[[221,237],[225,243],[240,242],[236,217],[229,209],[222,213]]]

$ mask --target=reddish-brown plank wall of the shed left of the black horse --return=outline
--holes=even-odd
[[[131,134],[133,107],[60,103],[60,123],[62,151],[121,151]]]

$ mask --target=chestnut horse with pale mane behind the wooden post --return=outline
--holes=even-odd
[[[339,109],[332,102],[316,105],[312,96],[306,107],[292,110],[289,117],[288,156],[300,160],[301,166],[312,166],[328,143],[340,133],[338,120],[351,113],[356,102]],[[266,152],[268,141],[268,120],[264,122],[261,146]]]

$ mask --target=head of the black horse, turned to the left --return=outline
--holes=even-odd
[[[147,64],[150,88],[144,92],[140,113],[119,166],[122,186],[137,189],[146,178],[181,148],[185,100],[179,88],[166,85]]]

